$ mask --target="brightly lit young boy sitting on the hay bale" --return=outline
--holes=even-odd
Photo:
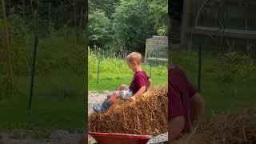
[[[142,70],[142,55],[137,52],[132,52],[126,57],[127,65],[134,71],[134,78],[130,82],[130,86],[122,85],[113,94],[108,94],[102,105],[95,104],[93,109],[95,112],[105,112],[108,108],[116,102],[117,98],[128,99],[134,102],[141,94],[149,89],[152,82]]]

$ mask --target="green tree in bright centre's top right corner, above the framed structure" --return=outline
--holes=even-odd
[[[154,29],[158,32],[158,35],[167,34],[167,12],[168,1],[167,0],[153,0],[150,3],[151,17],[154,18]]]

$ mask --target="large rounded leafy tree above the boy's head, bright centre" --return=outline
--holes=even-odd
[[[113,15],[114,39],[119,46],[144,52],[146,38],[154,34],[149,5],[150,1],[121,0]]]

